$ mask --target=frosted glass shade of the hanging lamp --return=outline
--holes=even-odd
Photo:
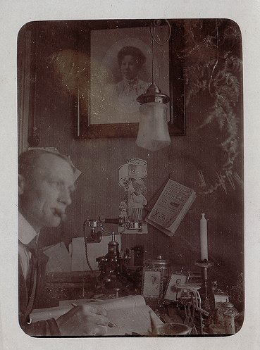
[[[166,111],[166,104],[158,102],[148,102],[140,106],[137,146],[157,151],[171,144]]]

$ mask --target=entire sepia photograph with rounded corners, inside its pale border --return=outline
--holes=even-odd
[[[244,158],[237,23],[34,21],[20,29],[17,50],[23,332],[240,332]],[[188,283],[187,275],[174,274],[182,269]],[[180,293],[178,284],[186,284]]]

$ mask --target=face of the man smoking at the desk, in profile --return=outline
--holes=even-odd
[[[56,227],[65,216],[74,189],[73,169],[54,154],[42,154],[19,187],[20,211],[36,231]]]

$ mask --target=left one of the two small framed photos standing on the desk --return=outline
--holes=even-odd
[[[163,292],[163,276],[159,269],[144,269],[142,277],[142,296],[145,299],[160,299]]]

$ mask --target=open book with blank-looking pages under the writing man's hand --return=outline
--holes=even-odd
[[[162,321],[156,316],[154,311],[146,305],[142,295],[125,296],[123,298],[102,301],[85,301],[84,299],[60,301],[60,305],[54,308],[33,310],[30,318],[32,322],[58,318],[73,307],[71,305],[72,302],[77,305],[91,304],[103,306],[108,313],[109,322],[113,324],[113,327],[108,327],[106,335],[132,335],[132,332],[147,335],[151,328],[150,313],[154,316],[153,320],[155,324],[162,324]]]

